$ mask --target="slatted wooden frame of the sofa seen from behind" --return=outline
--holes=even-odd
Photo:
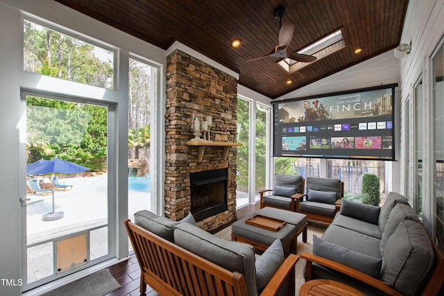
[[[170,241],[125,220],[140,266],[140,294],[146,285],[160,295],[247,295],[244,275],[230,272]],[[295,293],[295,265],[299,256],[290,254],[262,291],[277,295],[289,277],[289,295]]]

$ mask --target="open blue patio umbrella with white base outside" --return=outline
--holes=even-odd
[[[53,211],[48,214],[43,215],[43,220],[51,221],[57,220],[63,217],[63,212],[55,211],[54,206],[54,174],[69,174],[69,173],[80,173],[84,171],[88,171],[89,168],[86,166],[80,166],[78,164],[74,164],[73,162],[68,162],[67,160],[60,159],[58,157],[53,158],[51,160],[40,159],[37,162],[33,162],[26,166],[26,175],[42,175],[42,174],[52,174],[51,182],[52,182],[52,193],[53,193]]]

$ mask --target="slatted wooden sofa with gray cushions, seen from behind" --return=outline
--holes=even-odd
[[[146,216],[151,216],[148,219],[148,224],[146,223]],[[257,262],[256,266],[254,265],[253,247],[244,243],[216,238],[216,236],[212,236],[189,223],[176,224],[175,221],[155,216],[151,212],[148,212],[146,216],[142,216],[142,218],[139,216],[139,223],[137,223],[138,218],[136,216],[135,222],[138,225],[132,223],[129,219],[125,221],[128,236],[142,273],[140,277],[141,295],[145,295],[147,284],[160,295],[282,295],[281,287],[284,285],[287,285],[283,289],[285,291],[284,295],[294,295],[294,266],[299,259],[298,256],[291,254],[287,259],[284,259],[263,287],[259,284],[257,278],[255,268],[258,269],[259,266],[257,266]],[[139,225],[148,226],[153,232]],[[154,232],[161,235],[166,234],[164,235],[166,238]],[[186,247],[181,247],[178,243],[169,241],[169,238],[174,238],[174,236],[181,236],[177,238],[177,241],[180,241],[180,239],[182,239],[182,242],[185,241],[185,245],[189,244],[189,248],[193,249],[193,252],[189,248],[187,250]],[[203,240],[202,243],[198,241],[199,239]],[[212,241],[213,239],[225,242],[215,242]],[[221,243],[224,249],[222,252],[225,252],[221,258],[225,258],[226,263],[233,266],[232,269],[239,269],[239,266],[241,266],[240,269],[244,268],[244,272],[228,270],[222,267],[221,264],[216,264],[196,254],[200,252],[200,248],[205,248],[207,243],[212,244],[212,247],[219,247],[219,243]],[[226,243],[238,245],[227,247]],[[239,249],[239,246],[241,249]],[[231,254],[233,249],[242,250],[242,254],[240,256],[234,254],[233,257],[233,254]],[[244,252],[245,250],[246,252]],[[210,254],[212,254],[212,251],[210,250]],[[214,257],[216,256],[214,254]],[[250,257],[250,259],[247,259],[247,257]],[[232,258],[240,258],[240,261],[244,262],[230,262]],[[248,260],[249,263],[246,262]],[[262,268],[262,270],[267,271],[266,268]]]

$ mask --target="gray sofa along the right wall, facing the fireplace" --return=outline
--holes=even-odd
[[[443,255],[393,192],[382,207],[343,200],[322,238],[314,236],[313,254],[301,258],[306,281],[341,281],[366,295],[436,295],[444,278]]]

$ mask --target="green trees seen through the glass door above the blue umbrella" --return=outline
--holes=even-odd
[[[29,96],[28,164],[59,157],[92,171],[106,168],[108,109]]]

